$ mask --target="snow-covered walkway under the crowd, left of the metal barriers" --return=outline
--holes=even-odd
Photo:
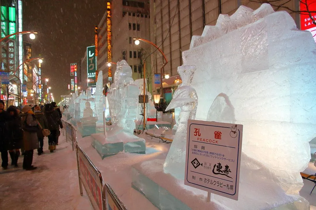
[[[38,156],[34,150],[36,170],[22,169],[23,156],[19,157],[18,168],[0,169],[0,209],[91,209],[85,192],[83,197],[79,193],[76,152],[70,142],[66,143],[65,136],[60,136],[59,144],[50,153],[46,137],[44,154]]]

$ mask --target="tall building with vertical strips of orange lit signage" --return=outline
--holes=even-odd
[[[134,80],[143,78],[146,57],[155,50],[148,43],[134,44],[133,38],[150,40],[149,1],[107,1],[106,11],[98,25],[98,71],[103,72],[104,84],[112,83],[115,63],[126,60],[132,68]],[[112,62],[111,67],[107,62]],[[146,78],[152,87],[150,57],[146,60]],[[110,72],[110,73],[109,73]]]

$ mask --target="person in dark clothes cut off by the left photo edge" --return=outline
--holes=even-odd
[[[7,138],[7,120],[9,118],[8,113],[3,110],[4,102],[0,100],[0,152],[2,163],[1,166],[5,170],[8,168],[8,138]]]

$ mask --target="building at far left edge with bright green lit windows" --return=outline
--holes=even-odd
[[[1,38],[22,31],[22,1],[0,1]],[[7,105],[19,105],[21,100],[22,67],[15,71],[23,59],[22,35],[11,36],[1,42],[1,90],[0,98]]]

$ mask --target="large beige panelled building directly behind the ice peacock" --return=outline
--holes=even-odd
[[[215,25],[219,14],[232,15],[241,5],[257,9],[261,3],[248,0],[150,0],[150,40],[161,46],[168,60],[162,70],[164,62],[161,54],[153,54],[152,63],[155,73],[170,76],[168,79],[163,77],[162,81],[162,96],[167,103],[182,83],[177,68],[183,64],[182,51],[190,48],[191,37],[201,36],[204,26]],[[288,1],[283,6],[293,10],[298,10],[299,7],[298,1],[295,0]],[[299,14],[291,13],[291,16],[300,28]],[[153,92],[160,93],[160,84],[154,85]]]

